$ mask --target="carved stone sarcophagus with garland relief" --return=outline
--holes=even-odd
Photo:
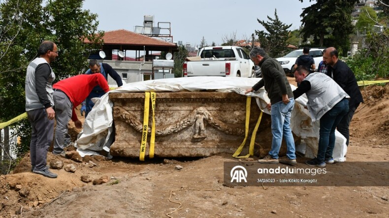
[[[207,157],[233,154],[245,138],[246,96],[222,92],[157,92],[155,106],[156,157]],[[143,131],[145,93],[110,93],[114,103],[113,156],[137,158]],[[251,101],[249,137],[242,154],[248,153],[250,137],[260,110]],[[149,154],[152,106],[149,109],[146,157]],[[255,155],[271,147],[271,118],[263,113],[255,140]],[[282,146],[280,153],[285,153]]]

